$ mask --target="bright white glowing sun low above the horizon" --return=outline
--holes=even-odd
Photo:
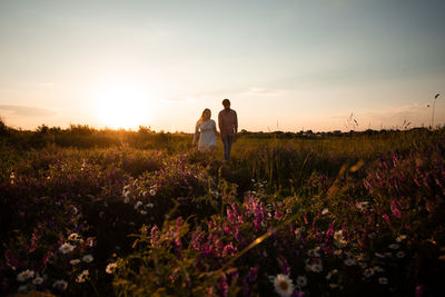
[[[113,83],[96,96],[95,112],[105,126],[137,129],[150,119],[149,93],[132,83]]]

